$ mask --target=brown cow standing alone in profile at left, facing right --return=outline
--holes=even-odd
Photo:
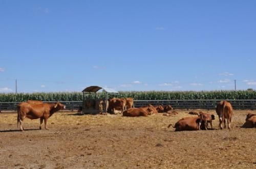
[[[24,130],[22,123],[24,119],[27,117],[29,119],[39,119],[40,118],[40,126],[41,129],[42,121],[45,120],[45,129],[47,128],[47,120],[51,117],[54,112],[65,109],[66,106],[56,102],[56,103],[41,103],[41,104],[30,104],[27,102],[19,103],[17,106],[18,116],[17,116],[17,126],[19,124],[19,128],[21,131]]]

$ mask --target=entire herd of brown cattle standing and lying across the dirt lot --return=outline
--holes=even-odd
[[[98,101],[98,108],[103,113],[103,107],[107,106],[108,112],[110,113],[120,113],[126,117],[139,117],[139,116],[150,116],[153,114],[158,114],[159,112],[164,112],[163,115],[176,115],[177,111],[173,110],[171,105],[147,105],[139,108],[134,107],[133,98],[112,98],[109,99],[107,105],[104,105],[102,100]],[[87,105],[90,106],[90,105]],[[51,117],[54,112],[58,110],[65,109],[66,106],[56,102],[56,103],[43,103],[42,101],[36,100],[28,100],[27,102],[21,102],[17,105],[17,126],[19,124],[20,130],[23,131],[23,121],[27,117],[29,119],[40,119],[40,126],[44,121],[45,129],[47,128],[47,120]],[[81,109],[78,110],[78,112]],[[227,127],[230,130],[231,119],[233,115],[232,105],[228,101],[221,101],[217,105],[216,108],[217,115],[219,116],[219,128],[223,129],[222,124],[224,124],[224,128]],[[215,120],[214,115],[205,114],[204,112],[195,112],[191,111],[189,114],[194,114],[198,116],[189,116],[180,119],[174,126],[170,124],[170,126],[175,128],[175,131],[183,131],[183,130],[207,130],[208,123],[211,125],[212,129],[212,120]],[[253,128],[256,127],[256,115],[255,114],[247,114],[246,122],[242,127],[245,128]]]

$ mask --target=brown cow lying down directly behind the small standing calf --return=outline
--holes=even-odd
[[[175,128],[175,131],[191,131],[191,130],[198,130],[199,127],[199,121],[200,121],[200,117],[185,117],[180,119],[175,126],[173,126],[172,124],[168,125],[168,128],[170,126],[172,126],[173,128]],[[201,125],[201,129],[204,129],[204,125]]]

